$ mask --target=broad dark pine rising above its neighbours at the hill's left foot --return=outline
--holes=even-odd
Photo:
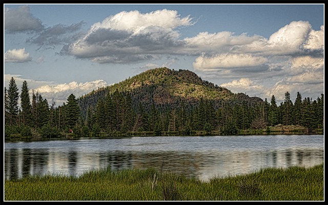
[[[67,105],[66,105],[66,122],[69,128],[74,127],[77,123],[80,115],[80,108],[77,104],[76,98],[73,94],[71,94],[67,98]]]

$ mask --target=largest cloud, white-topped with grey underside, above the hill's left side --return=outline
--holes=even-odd
[[[192,24],[190,16],[180,17],[177,11],[167,9],[150,13],[122,11],[93,24],[84,36],[63,47],[61,54],[98,63],[158,59],[163,53],[178,53],[183,42],[176,29]]]

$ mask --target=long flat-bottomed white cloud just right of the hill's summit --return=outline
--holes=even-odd
[[[213,57],[204,55],[196,58],[193,66],[196,70],[213,70],[215,68],[254,67],[267,62],[264,57],[250,54],[217,54]]]

